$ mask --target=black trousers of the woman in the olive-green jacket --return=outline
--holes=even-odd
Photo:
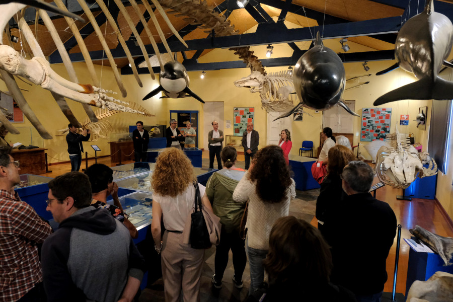
[[[233,253],[233,266],[235,268],[235,279],[237,281],[242,280],[242,274],[247,263],[247,256],[245,252],[245,240],[239,237],[239,232],[226,233],[223,229],[221,230],[220,243],[215,248],[215,279],[221,281],[226,265],[228,264],[228,253],[230,249]]]

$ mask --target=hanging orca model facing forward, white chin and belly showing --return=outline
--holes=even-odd
[[[189,75],[187,75],[187,70],[183,64],[179,62],[168,62],[164,65],[164,70],[161,70],[159,74],[159,84],[160,86],[148,93],[143,98],[143,101],[154,97],[162,91],[165,96],[161,97],[161,99],[193,97],[204,104],[204,101],[190,90]]]

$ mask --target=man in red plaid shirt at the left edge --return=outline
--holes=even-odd
[[[52,229],[14,191],[21,169],[11,150],[0,147],[0,301],[44,301],[37,244]]]

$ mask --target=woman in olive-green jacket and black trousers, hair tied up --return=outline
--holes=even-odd
[[[239,229],[245,204],[233,201],[233,192],[244,176],[245,170],[236,168],[238,154],[233,146],[225,146],[220,157],[223,169],[212,174],[206,184],[206,195],[212,203],[214,214],[220,217],[222,224],[220,243],[215,251],[215,274],[212,276],[212,284],[215,288],[222,287],[223,272],[231,249],[235,268],[233,284],[237,288],[242,288],[242,274],[247,256],[244,248],[245,241],[239,236]]]

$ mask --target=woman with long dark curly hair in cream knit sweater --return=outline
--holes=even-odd
[[[249,200],[247,255],[251,295],[264,281],[263,259],[269,250],[269,234],[279,217],[288,216],[289,201],[295,197],[294,180],[283,157],[283,150],[270,145],[257,152],[249,171],[239,182],[233,200]]]

